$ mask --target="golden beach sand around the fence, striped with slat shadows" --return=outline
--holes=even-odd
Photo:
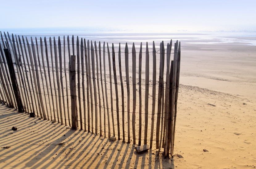
[[[144,154],[137,154],[134,150],[136,145],[133,145],[132,141],[131,144],[123,143],[122,140],[112,142],[108,138],[81,130],[72,130],[58,123],[32,119],[27,114],[17,113],[15,109],[1,105],[0,168],[255,168],[256,48],[254,48],[241,44],[184,43],[181,55],[182,85],[179,90],[174,158],[164,158],[161,153],[157,156],[155,141],[152,149]],[[121,89],[120,86],[119,88]],[[124,90],[127,101],[126,86]],[[130,90],[132,91],[131,85]],[[142,86],[142,105],[144,105],[144,91]],[[152,86],[149,93],[151,106]],[[121,118],[121,92],[118,94]],[[108,97],[110,98],[110,93]],[[115,99],[114,93],[113,99]],[[115,104],[114,101],[114,109]],[[142,112],[143,110],[144,107]],[[149,113],[151,114],[151,107]],[[130,119],[131,117],[132,114]],[[116,112],[114,118],[117,120]],[[127,113],[125,113],[126,122]],[[11,130],[13,126],[18,130]],[[112,120],[110,126],[113,131]],[[151,126],[151,115],[149,115],[149,126]],[[117,136],[117,126],[115,128]],[[142,140],[143,129],[144,116],[142,116]],[[127,141],[127,123],[125,131]],[[132,130],[130,132],[132,136]],[[122,135],[121,119],[120,133]],[[138,139],[138,129],[136,133]],[[148,135],[149,140],[150,134]],[[58,143],[64,144],[58,145]],[[138,144],[138,141],[136,143]],[[5,146],[10,148],[3,148]],[[118,151],[118,148],[121,151]],[[208,152],[204,152],[204,149]],[[180,155],[183,158],[180,158]]]

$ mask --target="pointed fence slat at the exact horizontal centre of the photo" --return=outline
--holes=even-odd
[[[129,50],[126,42],[125,45],[125,74],[126,74],[126,88],[127,88],[127,122],[128,122],[128,140],[130,143],[130,77],[129,77]]]

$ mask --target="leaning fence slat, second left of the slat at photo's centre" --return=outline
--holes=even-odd
[[[120,140],[120,122],[119,122],[118,87],[117,87],[116,57],[115,57],[115,48],[114,48],[114,43],[112,43],[112,63],[113,63],[114,82],[115,82],[115,91],[116,91],[117,131],[118,131],[118,140]]]

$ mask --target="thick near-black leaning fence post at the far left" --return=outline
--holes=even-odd
[[[16,83],[17,79],[16,79],[14,65],[13,65],[13,61],[12,61],[11,56],[10,56],[9,49],[5,48],[4,53],[5,53],[8,68],[9,68],[12,87],[13,87],[13,90],[14,90],[14,96],[15,96],[15,99],[17,101],[18,111],[22,112],[22,102],[21,102],[21,98],[20,98],[20,95],[19,95],[18,86],[17,86],[17,83]]]

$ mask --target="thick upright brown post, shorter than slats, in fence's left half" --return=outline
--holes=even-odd
[[[70,56],[70,95],[71,95],[71,122],[76,129],[76,56]]]

